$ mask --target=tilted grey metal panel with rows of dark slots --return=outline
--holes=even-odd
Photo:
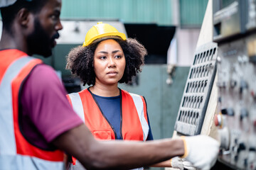
[[[183,92],[175,130],[182,135],[199,135],[206,115],[216,73],[217,44],[198,47]]]

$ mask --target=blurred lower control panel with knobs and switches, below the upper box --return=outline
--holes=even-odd
[[[256,169],[256,33],[218,46],[220,162]]]

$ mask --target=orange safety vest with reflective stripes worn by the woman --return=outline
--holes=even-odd
[[[92,94],[87,89],[68,94],[74,110],[85,121],[92,135],[102,140],[114,140],[114,131],[102,115]],[[142,96],[122,90],[122,137],[123,140],[146,140],[149,125],[146,103]]]

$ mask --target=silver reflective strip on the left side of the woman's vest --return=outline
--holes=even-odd
[[[74,111],[80,116],[80,118],[85,122],[85,115],[82,108],[82,100],[78,93],[68,94],[71,99],[71,103]]]

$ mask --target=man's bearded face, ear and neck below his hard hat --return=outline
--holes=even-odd
[[[61,0],[50,0],[49,2],[43,6],[40,13],[36,14],[30,13],[26,8],[21,8],[11,26],[13,35],[3,29],[0,48],[16,48],[28,55],[37,54],[44,57],[51,55],[51,49],[56,45],[54,38],[58,38],[58,30],[63,29],[63,26],[60,23]],[[40,22],[40,26],[46,33],[46,38],[43,38],[43,41],[40,36],[29,40],[31,35],[38,33],[35,26],[36,21]],[[45,42],[46,44],[44,44]],[[33,48],[31,44],[35,44],[37,48]],[[47,54],[44,53],[45,51]]]

